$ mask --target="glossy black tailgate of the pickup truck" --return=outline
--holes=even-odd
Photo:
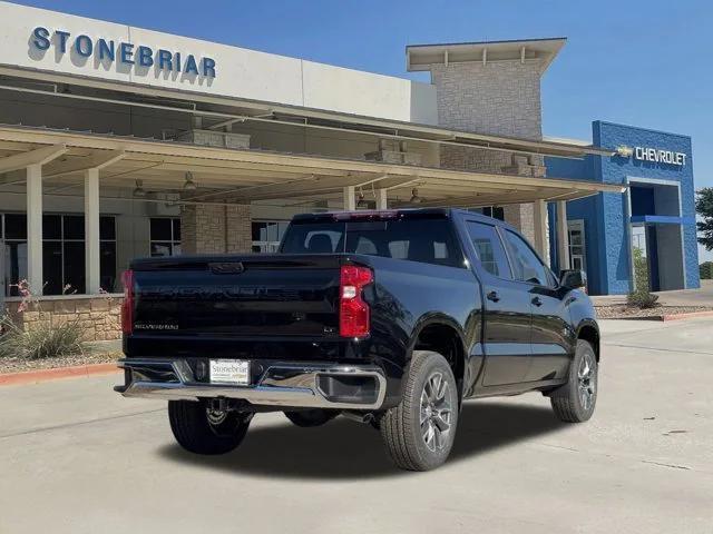
[[[339,337],[340,261],[339,255],[136,260],[134,333]]]

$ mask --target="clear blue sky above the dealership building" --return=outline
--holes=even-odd
[[[688,135],[696,188],[713,187],[710,1],[17,3],[421,81],[428,73],[406,72],[407,44],[567,37],[543,79],[544,134],[590,140],[600,119]]]

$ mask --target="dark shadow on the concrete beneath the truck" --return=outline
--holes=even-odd
[[[258,421],[260,415],[255,421]],[[549,403],[540,406],[505,402],[468,402],[458,423],[448,466],[528,438],[564,429]],[[340,417],[316,428],[284,424],[252,427],[240,448],[224,456],[198,456],[172,443],[159,456],[222,472],[287,478],[372,478],[408,475],[397,469],[371,426]]]

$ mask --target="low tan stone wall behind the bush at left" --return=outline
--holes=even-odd
[[[39,297],[26,312],[18,312],[19,301],[9,301],[7,307],[25,329],[78,320],[85,342],[105,342],[121,338],[121,300],[120,295]]]

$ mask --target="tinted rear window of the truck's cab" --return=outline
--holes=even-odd
[[[448,219],[294,221],[283,254],[351,253],[462,267],[463,257]]]

